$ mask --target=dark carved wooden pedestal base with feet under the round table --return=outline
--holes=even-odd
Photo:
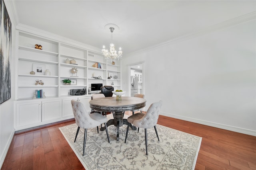
[[[124,119],[124,113],[123,112],[115,112],[114,113],[114,119],[110,119],[107,122],[107,127],[110,125],[114,125],[116,126],[116,140],[119,140],[119,127],[122,125],[128,125],[128,121],[127,119]],[[130,124],[130,128],[132,128],[132,130],[136,130],[137,127],[134,127],[132,124]],[[105,127],[101,127],[100,131],[104,131]]]

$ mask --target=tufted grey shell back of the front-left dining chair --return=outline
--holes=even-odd
[[[76,125],[84,129],[98,126],[100,123],[90,117],[84,105],[76,100],[71,100],[71,105],[76,120]]]

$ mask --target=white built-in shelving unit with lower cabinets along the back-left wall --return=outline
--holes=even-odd
[[[74,117],[70,100],[81,101],[90,112],[91,95],[88,94],[88,88],[92,83],[121,88],[120,60],[112,64],[112,61],[106,61],[100,51],[76,47],[20,30],[16,31],[16,35],[16,130]],[[42,45],[42,50],[35,49],[36,44]],[[101,68],[96,68],[96,63]],[[72,72],[73,68],[78,71]],[[50,71],[50,75],[45,75],[46,69]],[[64,85],[64,79],[72,80],[73,84]],[[44,84],[36,85],[36,80],[41,80]],[[71,89],[82,88],[86,88],[85,95],[70,95]],[[46,98],[33,98],[36,90],[43,90]]]

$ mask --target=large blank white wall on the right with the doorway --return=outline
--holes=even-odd
[[[256,21],[147,49],[122,59],[145,61],[146,108],[163,100],[162,115],[256,135]],[[171,123],[171,122],[170,122]]]

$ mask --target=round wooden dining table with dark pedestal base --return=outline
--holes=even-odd
[[[116,97],[106,97],[90,100],[90,107],[98,111],[112,112],[114,119],[110,119],[107,122],[107,127],[110,125],[116,126],[116,140],[119,140],[119,127],[122,125],[128,125],[127,119],[124,119],[124,111],[132,111],[140,109],[146,106],[146,100],[144,98],[125,97],[122,96],[122,100],[116,100]],[[137,128],[130,124],[133,130]],[[105,127],[100,128],[101,131],[105,130]]]

